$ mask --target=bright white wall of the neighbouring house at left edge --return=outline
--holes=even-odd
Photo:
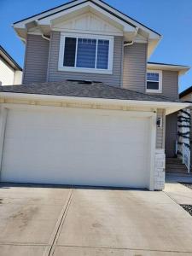
[[[12,85],[14,84],[15,70],[0,59],[0,84],[1,85]]]

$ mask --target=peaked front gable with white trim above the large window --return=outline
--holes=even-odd
[[[28,28],[30,27],[30,29],[32,29],[32,26],[38,26],[39,32],[46,36],[49,36],[51,30],[63,29],[63,26],[67,30],[74,29],[74,32],[79,30],[79,27],[83,27],[83,31],[85,30],[87,32],[89,29],[85,27],[85,23],[89,22],[89,18],[86,16],[79,18],[79,20],[76,19],[79,15],[83,15],[87,12],[91,12],[99,17],[99,20],[96,17],[93,18],[95,23],[90,21],[90,31],[97,32],[100,27],[100,32],[113,32],[113,35],[115,35],[121,30],[125,41],[128,42],[134,41],[137,34],[141,35],[148,42],[148,57],[153,53],[155,47],[160,42],[161,37],[159,33],[154,32],[137,20],[131,19],[131,17],[124,15],[101,0],[75,0],[55,9],[50,9],[41,14],[29,17],[26,20],[20,20],[14,24],[14,28],[22,40],[26,39]],[[75,19],[76,21],[67,22],[62,19]],[[103,22],[103,20],[105,20],[105,22]],[[64,22],[64,24],[55,27],[55,24],[62,22]]]

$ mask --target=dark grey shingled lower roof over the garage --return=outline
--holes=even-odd
[[[165,96],[147,95],[133,90],[116,88],[100,82],[84,83],[82,81],[78,82],[69,80],[49,83],[32,83],[27,85],[1,86],[0,95],[1,92],[132,101],[179,102]]]

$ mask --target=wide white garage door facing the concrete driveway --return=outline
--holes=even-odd
[[[123,111],[9,109],[1,180],[147,188],[149,124]]]

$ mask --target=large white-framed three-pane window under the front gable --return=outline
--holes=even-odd
[[[113,37],[61,33],[59,70],[113,72]]]

